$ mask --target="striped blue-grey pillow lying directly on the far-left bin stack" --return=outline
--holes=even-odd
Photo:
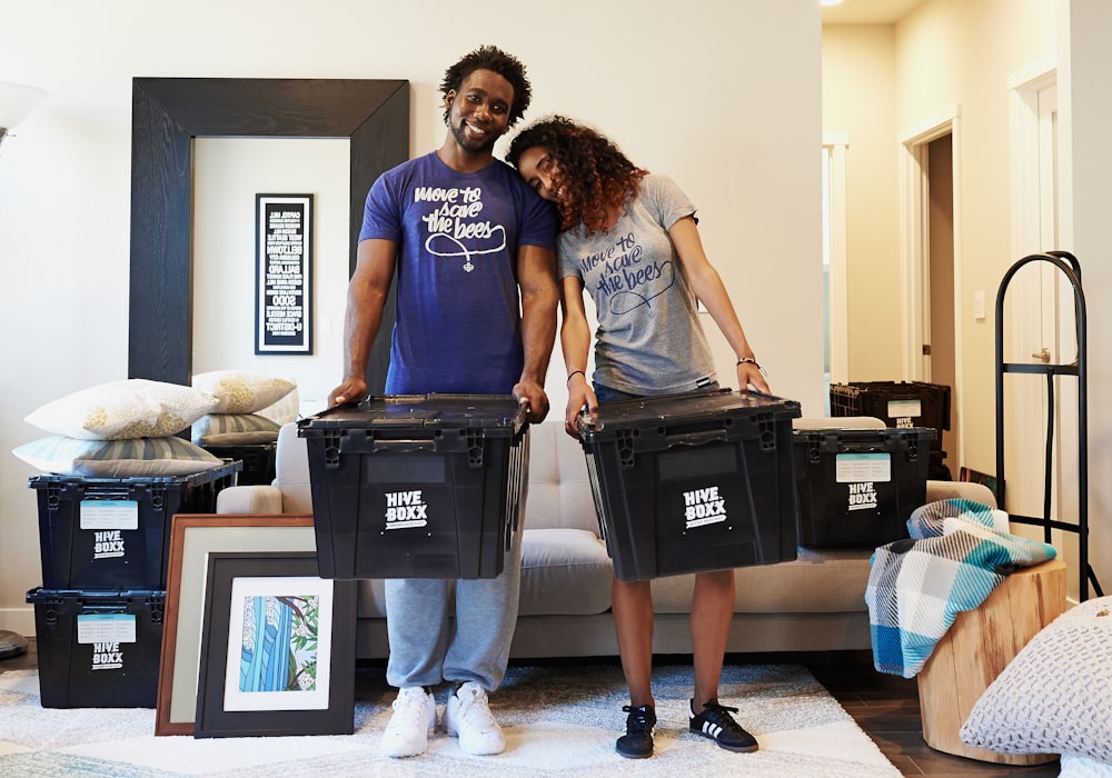
[[[224,465],[200,446],[177,437],[79,440],[51,435],[12,450],[43,472],[87,478],[189,476]]]

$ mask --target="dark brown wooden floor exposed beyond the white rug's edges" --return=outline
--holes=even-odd
[[[1059,774],[1058,761],[1015,767],[935,751],[923,741],[916,681],[877,672],[873,669],[871,651],[743,654],[732,655],[728,660],[737,664],[796,664],[807,667],[905,776],[1052,778]],[[34,640],[31,639],[27,654],[0,659],[0,672],[34,668],[36,665]]]

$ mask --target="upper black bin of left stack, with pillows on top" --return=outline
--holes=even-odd
[[[239,462],[191,476],[33,476],[47,589],[165,589],[175,513],[211,513]]]

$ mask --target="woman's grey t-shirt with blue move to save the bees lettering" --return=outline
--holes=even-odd
[[[667,176],[641,192],[606,232],[583,225],[559,237],[560,278],[595,301],[594,380],[633,395],[693,391],[717,380],[711,347],[668,230],[695,206]]]

